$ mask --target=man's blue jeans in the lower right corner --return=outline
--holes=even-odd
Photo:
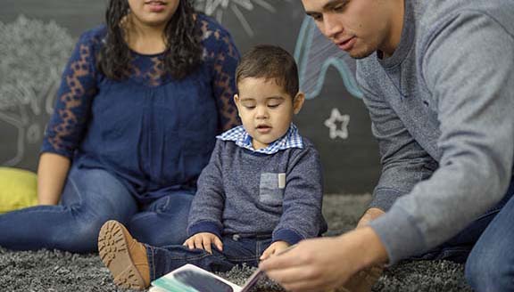
[[[466,263],[476,291],[514,291],[514,182],[505,197],[452,239],[415,259]]]

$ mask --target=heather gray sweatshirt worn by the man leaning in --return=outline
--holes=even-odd
[[[390,263],[450,239],[500,201],[514,156],[514,2],[405,0],[393,56],[357,78],[383,171],[371,223]]]

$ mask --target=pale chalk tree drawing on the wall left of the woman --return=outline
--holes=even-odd
[[[12,23],[0,22],[0,127],[6,123],[17,131],[17,137],[2,137],[16,141],[17,150],[1,165],[17,165],[25,145],[41,141],[73,43],[53,21],[20,16]]]

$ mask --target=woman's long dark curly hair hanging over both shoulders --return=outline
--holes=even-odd
[[[120,80],[128,77],[131,61],[122,22],[129,14],[128,0],[110,0],[105,12],[107,37],[98,56],[97,67],[106,77]],[[195,9],[189,0],[180,0],[177,11],[164,28],[166,51],[164,71],[181,79],[202,63],[201,33],[195,24]]]

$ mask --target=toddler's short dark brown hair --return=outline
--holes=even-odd
[[[277,45],[256,45],[245,53],[236,69],[236,84],[247,77],[275,79],[292,98],[299,90],[296,62]]]

